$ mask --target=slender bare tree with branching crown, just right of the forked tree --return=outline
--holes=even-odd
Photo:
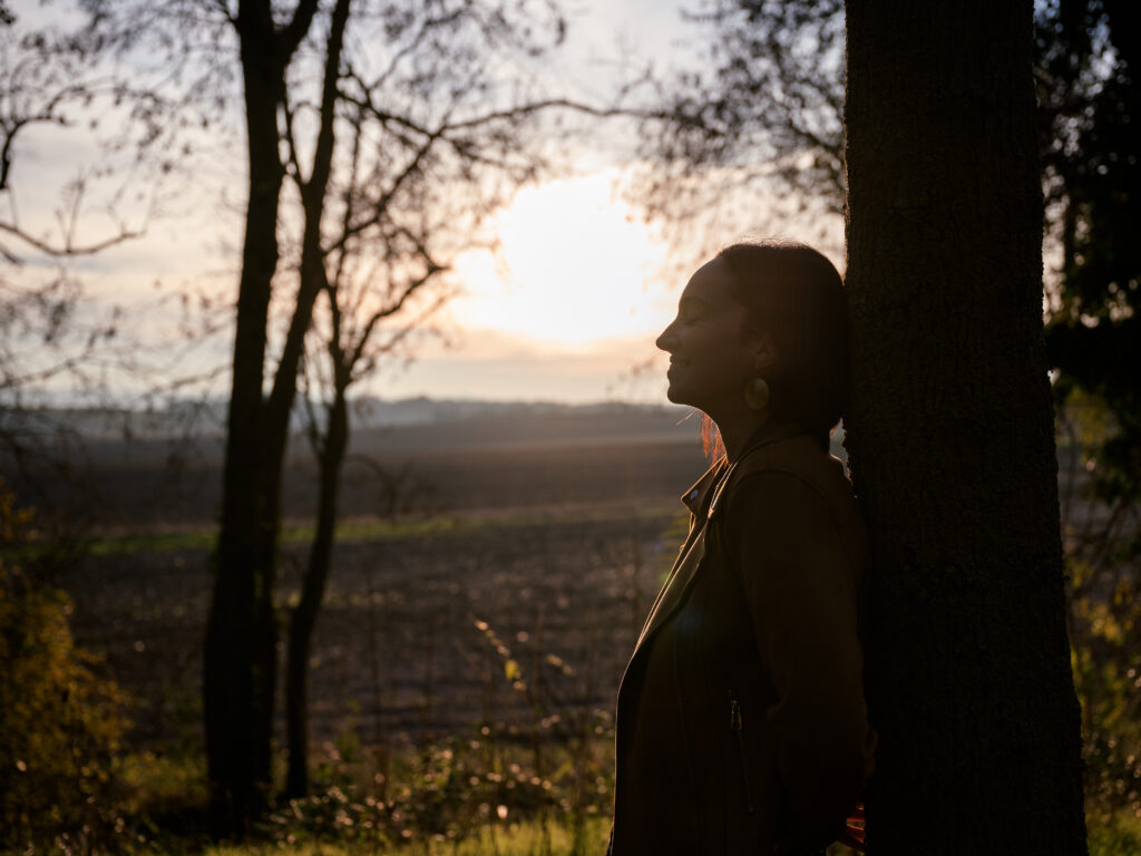
[[[290,614],[285,663],[285,713],[289,770],[285,793],[301,797],[308,791],[308,664],[313,631],[332,566],[332,548],[338,520],[337,502],[341,468],[350,436],[349,388],[369,377],[386,356],[391,356],[445,297],[437,285],[445,272],[429,251],[429,243],[447,232],[440,223],[426,219],[422,197],[429,180],[429,162],[438,160],[426,138],[446,137],[452,129],[439,128],[408,139],[391,135],[378,118],[369,89],[356,99],[347,120],[350,138],[343,178],[332,194],[340,207],[337,225],[321,245],[318,265],[306,266],[322,278],[323,317],[310,329],[313,345],[304,361],[304,397],[308,411],[310,445],[317,459],[318,493],[314,540],[301,582],[301,597]],[[388,137],[388,145],[371,139]],[[405,148],[404,167],[395,177],[383,161]],[[438,169],[438,167],[437,167]],[[459,181],[459,177],[453,178]],[[458,185],[453,184],[453,189]],[[421,217],[402,224],[412,209]],[[463,210],[439,210],[464,218]],[[427,300],[424,292],[436,291]],[[314,401],[316,399],[316,401]]]

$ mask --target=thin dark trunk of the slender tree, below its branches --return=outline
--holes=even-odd
[[[337,526],[337,493],[341,463],[348,445],[348,405],[346,385],[337,383],[335,397],[329,409],[329,426],[321,450],[321,488],[317,499],[317,531],[309,548],[301,599],[293,608],[289,627],[285,661],[285,719],[289,745],[289,772],[285,796],[305,797],[309,791],[309,647],[317,613],[325,597]]]

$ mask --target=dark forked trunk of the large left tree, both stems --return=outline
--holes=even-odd
[[[323,277],[313,273],[313,265],[321,264],[319,253],[313,263],[314,241],[307,235],[310,269],[308,275],[302,270],[290,333],[267,401],[262,390],[267,322],[278,260],[277,210],[285,175],[277,111],[285,92],[285,68],[308,32],[316,9],[316,0],[299,0],[290,24],[278,27],[268,0],[242,0],[236,19],[245,88],[250,187],[227,417],[221,531],[203,676],[210,829],[216,838],[244,834],[249,821],[264,808],[270,786],[277,678],[274,583],[282,467],[301,339],[309,328],[313,304],[323,282]],[[349,0],[338,0],[331,18],[322,128],[313,175],[304,189],[306,227],[318,235],[333,148],[332,104],[348,9]]]

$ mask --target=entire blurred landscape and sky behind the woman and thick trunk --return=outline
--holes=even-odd
[[[1141,849],[1126,9],[1034,11],[1107,854]],[[833,0],[0,2],[0,848],[602,853],[706,466],[654,339],[735,239],[843,270],[843,64]]]

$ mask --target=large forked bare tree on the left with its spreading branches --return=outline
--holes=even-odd
[[[282,465],[315,307],[326,296],[335,428],[338,395],[343,406],[391,324],[418,317],[422,293],[430,305],[482,213],[536,173],[524,129],[565,105],[536,83],[565,23],[552,0],[83,7],[89,43],[160,48],[167,89],[202,115],[240,82],[248,185],[204,701],[211,825],[241,834],[268,796]],[[340,430],[323,439],[333,494]]]

